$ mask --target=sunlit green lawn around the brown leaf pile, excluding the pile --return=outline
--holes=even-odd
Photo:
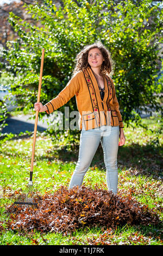
[[[143,119],[149,129],[159,131],[160,118]],[[162,205],[162,135],[143,130],[142,127],[124,128],[126,144],[118,150],[118,192],[137,199],[161,216]],[[13,202],[17,193],[25,190],[29,180],[33,138],[17,138],[5,141],[0,148],[0,198],[1,221],[0,245],[91,245],[106,231],[96,227],[85,227],[64,236],[60,233],[40,234],[37,231],[18,233],[5,228],[5,207]],[[63,151],[51,137],[37,133],[33,182],[42,194],[53,192],[61,185],[68,186],[78,160],[78,150]],[[88,172],[85,185],[101,184],[107,189],[103,151],[99,146]],[[128,226],[118,227],[107,233],[111,245],[162,245],[161,227]]]

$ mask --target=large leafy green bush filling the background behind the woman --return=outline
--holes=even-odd
[[[140,124],[137,109],[147,105],[160,110],[161,82],[156,82],[161,61],[158,53],[162,33],[162,9],[152,0],[89,1],[64,0],[58,8],[52,1],[24,4],[26,10],[41,26],[23,21],[10,13],[9,22],[18,38],[8,41],[3,51],[4,69],[15,76],[12,94],[18,105],[28,111],[34,108],[39,84],[41,51],[45,48],[42,91],[44,104],[66,86],[75,66],[77,53],[87,44],[100,40],[115,61],[112,76],[122,118],[127,126],[132,120]],[[77,110],[73,97],[66,106]],[[64,106],[59,109],[64,112]],[[152,113],[152,112],[151,112]],[[61,133],[61,131],[60,131]],[[76,131],[69,131],[70,135]]]

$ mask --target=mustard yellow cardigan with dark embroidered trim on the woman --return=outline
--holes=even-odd
[[[79,111],[79,130],[82,130],[82,122],[85,130],[102,125],[123,128],[114,82],[111,77],[105,74],[103,74],[103,78],[105,92],[103,101],[96,76],[92,69],[88,67],[77,72],[58,96],[45,104],[47,106],[46,112],[51,114],[76,95]]]

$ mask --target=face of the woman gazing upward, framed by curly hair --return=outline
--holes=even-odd
[[[98,48],[93,48],[89,51],[87,61],[90,64],[91,68],[101,68],[103,60],[104,57]]]

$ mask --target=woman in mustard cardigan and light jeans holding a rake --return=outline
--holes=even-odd
[[[57,97],[35,103],[35,111],[52,113],[76,95],[79,111],[80,146],[69,188],[81,186],[99,143],[102,143],[108,189],[117,193],[118,145],[125,143],[123,121],[114,83],[109,76],[112,59],[101,42],[84,47],[77,55],[71,80]],[[120,142],[118,139],[120,137]]]

